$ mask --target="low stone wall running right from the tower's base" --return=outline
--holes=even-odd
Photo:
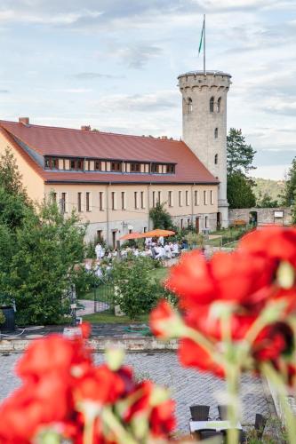
[[[235,210],[229,210],[229,225],[232,225],[235,220],[245,220],[249,223],[250,213],[257,213],[257,225],[281,225],[289,226],[292,225],[292,213],[290,207],[279,207],[279,208],[239,208]],[[283,213],[283,217],[280,213]]]

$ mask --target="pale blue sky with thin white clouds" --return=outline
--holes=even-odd
[[[257,151],[252,176],[296,155],[295,0],[1,0],[0,119],[181,137],[177,77],[232,75],[228,128]]]

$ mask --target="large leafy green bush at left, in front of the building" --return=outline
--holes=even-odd
[[[17,229],[5,291],[19,324],[54,323],[67,312],[65,295],[84,258],[84,227],[77,222],[75,213],[64,218],[55,203],[44,202]]]

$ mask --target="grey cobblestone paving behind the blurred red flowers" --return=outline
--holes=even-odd
[[[13,366],[20,354],[0,354],[0,399],[4,399],[19,384],[13,374]],[[103,361],[101,353],[95,353],[97,363]],[[218,415],[217,404],[223,403],[225,384],[210,374],[180,367],[175,353],[128,353],[125,363],[131,365],[139,379],[150,378],[172,391],[176,400],[178,430],[188,432],[189,406],[211,405],[210,416]],[[256,413],[269,415],[268,402],[258,378],[243,377],[242,380],[242,424],[253,424]]]

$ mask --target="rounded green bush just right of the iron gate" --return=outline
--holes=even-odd
[[[114,266],[114,302],[132,320],[148,313],[160,297],[160,284],[148,273],[152,267],[149,258],[131,258]]]

